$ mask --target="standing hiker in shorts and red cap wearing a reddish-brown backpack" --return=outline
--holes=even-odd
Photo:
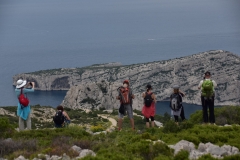
[[[118,112],[118,130],[120,131],[122,129],[122,122],[123,117],[126,114],[128,114],[128,118],[130,119],[132,130],[134,130],[134,119],[133,119],[133,109],[132,109],[132,100],[135,98],[135,96],[132,94],[132,90],[129,87],[129,81],[125,80],[123,82],[123,86],[118,88],[119,95],[117,96],[117,99],[120,100],[120,108]]]

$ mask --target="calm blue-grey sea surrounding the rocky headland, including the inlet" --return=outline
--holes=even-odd
[[[16,105],[12,77],[19,73],[217,49],[240,55],[239,7],[239,0],[1,0],[0,106]],[[31,104],[54,107],[65,94],[29,96]],[[159,114],[169,111],[162,103]]]

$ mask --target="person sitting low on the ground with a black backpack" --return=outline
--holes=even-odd
[[[69,118],[66,111],[64,111],[63,106],[57,106],[56,113],[53,117],[56,128],[66,127],[70,124],[71,119]]]

